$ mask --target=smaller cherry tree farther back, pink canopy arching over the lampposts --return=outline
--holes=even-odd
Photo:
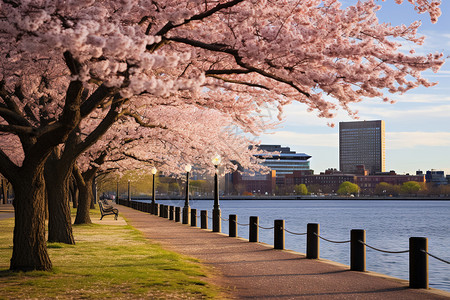
[[[92,184],[97,172],[139,169],[148,174],[157,167],[168,175],[178,175],[184,173],[186,164],[212,172],[211,158],[217,153],[224,155],[223,166],[227,170],[236,170],[238,163],[248,170],[265,171],[254,155],[259,150],[248,147],[257,141],[240,135],[241,130],[231,118],[215,110],[160,106],[135,117],[138,122],[125,119],[115,123],[78,158],[74,173],[80,197],[75,224],[91,222],[89,203],[93,200]],[[158,126],[149,125],[149,118],[159,119]],[[252,128],[252,132],[261,133],[275,125],[264,123]]]

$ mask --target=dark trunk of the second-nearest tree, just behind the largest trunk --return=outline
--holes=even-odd
[[[62,166],[55,153],[45,164],[45,182],[48,197],[48,241],[75,244],[69,206],[69,179],[71,167]]]

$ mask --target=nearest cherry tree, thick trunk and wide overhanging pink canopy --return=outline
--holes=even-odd
[[[408,2],[437,21],[440,1]],[[251,132],[268,103],[280,117],[292,101],[332,117],[338,108],[354,114],[349,104],[367,97],[389,101],[385,91],[432,86],[421,72],[437,71],[442,54],[403,53],[399,40],[423,42],[420,23],[381,24],[378,8],[374,0],[0,1],[0,172],[16,196],[10,268],[51,268],[44,164],[88,117],[98,116],[89,132],[103,131],[99,139],[101,124],[112,126],[107,116],[192,105]],[[8,152],[8,141],[20,147]]]

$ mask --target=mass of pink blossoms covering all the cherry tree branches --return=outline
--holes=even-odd
[[[408,2],[437,21],[440,1]],[[280,120],[292,101],[331,118],[339,108],[355,115],[350,104],[368,97],[390,101],[386,92],[433,86],[421,72],[437,72],[442,54],[402,52],[400,39],[423,43],[420,23],[380,23],[379,7],[375,0],[345,8],[339,0],[0,1],[0,149],[8,151],[9,135],[39,135],[57,122],[73,82],[82,82],[83,99],[101,86],[115,92],[83,116],[81,136],[123,102],[99,149],[127,149],[123,141],[138,134],[146,142],[127,151],[144,157],[146,145],[158,145],[147,151],[155,161],[169,160],[165,149],[191,163],[212,150],[235,159],[246,134],[273,126],[261,121],[266,105]],[[153,126],[137,126],[135,116]]]

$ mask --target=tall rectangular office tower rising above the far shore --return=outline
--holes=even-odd
[[[364,166],[370,174],[385,171],[384,121],[339,123],[339,168],[344,173],[357,173]],[[360,169],[360,167],[359,167]]]

